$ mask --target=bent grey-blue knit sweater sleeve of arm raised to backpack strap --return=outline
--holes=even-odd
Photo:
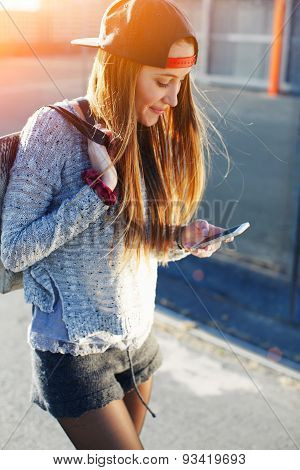
[[[69,126],[57,111],[42,107],[21,131],[2,206],[0,257],[10,271],[23,271],[47,257],[109,208],[82,182],[77,194],[49,211],[72,152]]]

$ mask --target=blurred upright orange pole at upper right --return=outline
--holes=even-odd
[[[285,14],[285,0],[274,0],[274,16],[273,16],[273,38],[272,48],[270,51],[270,68],[269,68],[269,85],[268,94],[278,95],[280,68],[281,68],[281,52],[283,38],[283,24]]]

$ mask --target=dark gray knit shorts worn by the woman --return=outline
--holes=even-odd
[[[31,349],[30,401],[54,418],[79,417],[85,411],[120,400],[134,389],[127,350],[73,356]],[[139,349],[131,352],[136,385],[146,382],[163,357],[152,326]]]

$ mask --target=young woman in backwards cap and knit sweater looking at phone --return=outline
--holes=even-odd
[[[198,44],[167,0],[116,1],[99,38],[72,42],[98,48],[86,98],[110,145],[87,141],[46,106],[28,119],[3,204],[1,258],[24,272],[32,303],[32,403],[76,449],[144,449],[162,364],[158,262],[221,245],[188,248],[221,230],[191,222],[209,150],[191,92]],[[56,104],[82,117],[76,100]]]

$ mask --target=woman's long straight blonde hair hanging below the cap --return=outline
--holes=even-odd
[[[182,41],[193,43],[193,38],[177,42]],[[204,195],[211,171],[208,126],[221,136],[197,107],[191,85],[201,93],[189,74],[182,82],[176,107],[170,107],[151,127],[138,123],[135,89],[141,68],[99,48],[86,97],[95,120],[113,136],[108,152],[118,174],[123,262],[132,258],[133,250],[139,261],[143,250],[148,261],[151,253],[167,266],[168,251],[174,247],[174,227],[192,220]],[[147,222],[141,177],[147,194]]]

